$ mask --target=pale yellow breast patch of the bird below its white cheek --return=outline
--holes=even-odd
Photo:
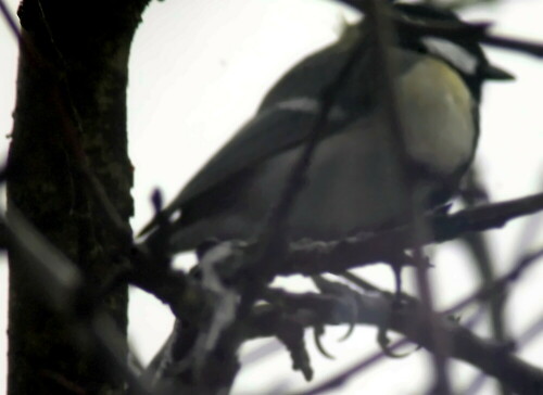
[[[458,73],[428,56],[399,78],[397,90],[411,158],[441,175],[469,163],[478,129],[473,100]]]

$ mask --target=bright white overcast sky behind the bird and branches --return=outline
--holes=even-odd
[[[12,10],[16,3],[8,1]],[[161,187],[166,200],[172,199],[251,116],[281,73],[336,37],[344,15],[333,3],[319,0],[151,3],[136,36],[130,61],[128,127],[130,156],[136,167],[135,229],[151,216],[148,199],[151,190]],[[542,0],[509,0],[497,8],[470,10],[466,17],[496,21],[496,30],[501,33],[543,41],[541,15]],[[518,78],[513,84],[488,86],[484,92],[477,161],[482,165],[492,199],[503,200],[535,192],[538,182],[541,189],[543,65],[532,58],[504,51],[491,51],[490,55],[494,63]],[[4,133],[11,129],[15,67],[16,46],[0,22],[0,130]],[[1,140],[0,154],[5,153],[7,146],[8,140]],[[505,230],[489,232],[502,270],[512,265],[525,224],[516,220]],[[534,241],[528,245],[541,246],[541,232],[531,235]],[[438,303],[445,307],[477,284],[456,243],[435,250],[433,277],[439,290]],[[391,286],[391,275],[383,268],[361,272]],[[7,265],[0,264],[0,328],[5,328],[7,321],[5,275]],[[513,333],[521,333],[534,317],[543,314],[541,279],[543,268],[531,269],[512,293],[507,313]],[[138,355],[149,360],[169,332],[172,317],[166,307],[142,292],[134,292],[132,301],[130,339]],[[325,339],[328,351],[337,357],[333,361],[319,357],[308,339],[317,378],[341,371],[344,364],[378,349],[374,328],[357,329],[351,339],[338,343],[343,331],[344,328],[330,329]],[[0,337],[0,356],[4,355],[5,339]],[[521,355],[543,366],[541,339]],[[0,394],[5,392],[4,362],[0,359]],[[388,360],[349,382],[341,393],[420,393],[424,387],[420,383],[428,377],[427,364],[422,352]],[[292,372],[290,367],[286,353],[251,366],[239,377],[236,393],[263,393],[282,383],[300,387],[301,374]],[[459,384],[469,382],[473,374],[472,369],[460,364],[453,367],[453,372]],[[485,393],[491,392],[487,388]]]

